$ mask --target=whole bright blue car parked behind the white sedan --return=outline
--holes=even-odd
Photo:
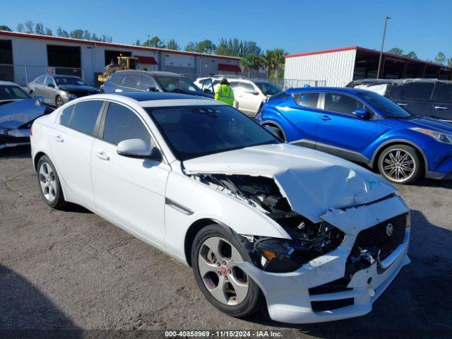
[[[279,138],[379,169],[391,182],[452,179],[452,125],[357,88],[295,88],[256,117]]]

